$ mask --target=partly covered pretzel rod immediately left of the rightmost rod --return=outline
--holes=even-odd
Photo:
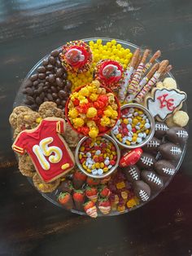
[[[142,80],[138,84],[138,90],[137,90],[138,93],[140,90],[142,90],[142,87],[145,86],[146,83],[151,79],[151,77],[155,74],[158,68],[159,68],[159,63],[156,63],[155,65],[153,65],[151,70],[146,74],[146,76],[142,78]],[[134,98],[135,98],[135,95],[133,94],[127,95],[127,97],[124,99],[124,102],[129,103]]]

